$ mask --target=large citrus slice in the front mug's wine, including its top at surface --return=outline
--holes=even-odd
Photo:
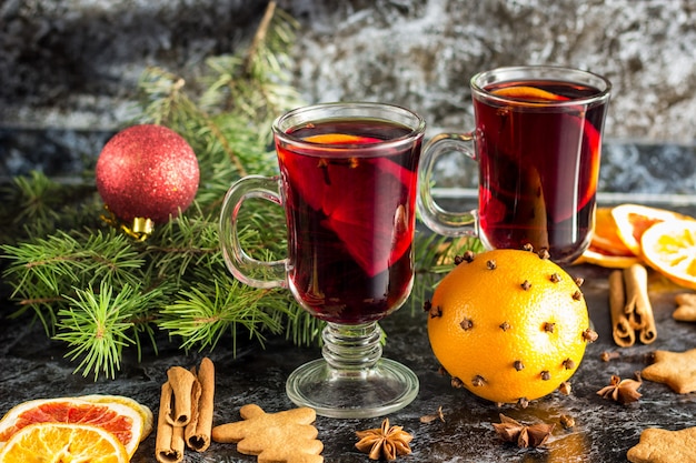
[[[358,145],[382,140],[345,133],[307,137],[309,142]],[[390,157],[346,158],[302,157],[291,147],[281,147],[279,157],[292,188],[311,209],[326,219],[321,225],[341,240],[350,256],[369,275],[375,276],[399,260],[410,248],[412,204],[406,204],[404,191],[415,191],[417,174]],[[351,150],[347,150],[350,152]]]

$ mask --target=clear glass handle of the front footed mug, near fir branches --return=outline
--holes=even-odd
[[[240,282],[255,288],[287,288],[287,259],[259,261],[241,249],[238,214],[249,198],[261,198],[282,205],[278,177],[249,175],[232,183],[220,212],[220,245],[229,271]]]

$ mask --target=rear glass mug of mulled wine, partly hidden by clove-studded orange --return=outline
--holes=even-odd
[[[478,235],[486,248],[546,249],[557,263],[589,245],[601,131],[612,84],[556,67],[501,68],[470,82],[476,130],[443,133],[424,149],[418,210],[432,231]],[[445,153],[478,162],[478,210],[453,212],[432,198]]]

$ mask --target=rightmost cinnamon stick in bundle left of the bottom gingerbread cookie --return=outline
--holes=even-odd
[[[205,358],[200,362],[197,378],[197,383],[200,386],[200,397],[195,403],[195,411],[192,412],[191,421],[186,426],[185,437],[190,449],[197,452],[205,452],[210,446],[215,404],[215,365],[210,359]]]

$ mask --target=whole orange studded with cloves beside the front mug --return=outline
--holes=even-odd
[[[440,281],[428,310],[432,352],[453,382],[493,402],[551,393],[596,339],[578,282],[531,251],[470,254]]]

